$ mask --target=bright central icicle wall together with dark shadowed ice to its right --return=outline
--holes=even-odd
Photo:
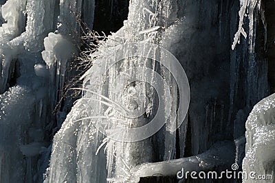
[[[55,178],[63,181],[74,178],[78,181],[83,178],[80,175],[85,175],[85,180],[92,178],[104,182],[105,180],[100,179],[102,174],[96,174],[100,171],[104,172],[103,176],[107,176],[109,181],[122,182],[129,178],[129,169],[137,164],[194,156],[207,151],[217,141],[240,139],[245,132],[244,124],[248,112],[256,101],[267,95],[268,84],[267,63],[263,58],[255,57],[253,49],[248,47],[249,40],[241,38],[241,45],[234,51],[230,51],[234,35],[238,32],[239,10],[239,2],[232,1],[175,2],[166,0],[160,3],[153,0],[131,1],[128,20],[124,21],[124,27],[109,36],[106,42],[101,42],[98,52],[91,55],[91,58],[96,59],[93,60],[94,66],[83,76],[85,77],[83,86],[85,92],[83,99],[78,101],[79,105],[80,103],[87,105],[84,118],[85,121],[90,120],[83,123],[82,116],[77,117],[75,121],[70,118],[65,120],[61,131],[54,137],[47,181],[51,182]],[[251,10],[252,14],[254,14],[253,10]],[[250,15],[253,23],[259,20],[256,18],[254,20],[253,17]],[[250,41],[261,46],[261,43],[256,43],[255,34],[251,35],[254,36],[250,36]],[[104,118],[121,118],[113,112],[111,106],[104,107],[108,104],[102,102],[102,95],[116,101],[120,95],[117,94],[117,90],[113,89],[115,75],[120,72],[120,69],[124,71],[128,66],[142,65],[143,61],[126,60],[118,68],[109,71],[109,77],[100,75],[100,71],[104,70],[106,66],[104,63],[115,59],[113,53],[115,53],[114,56],[121,54],[119,50],[112,49],[112,47],[131,41],[153,42],[162,45],[171,51],[184,66],[191,90],[188,120],[186,119],[184,125],[177,131],[178,134],[169,132],[169,123],[166,123],[162,130],[151,139],[136,143],[113,141],[91,130],[90,138],[94,139],[94,143],[89,143],[89,134],[83,134],[85,126],[100,125],[104,123],[102,120]],[[257,60],[263,60],[263,62],[257,62]],[[155,69],[153,64],[147,66]],[[169,83],[173,84],[173,80],[165,74],[165,70],[160,69],[160,71]],[[102,85],[101,80],[107,80],[107,84]],[[125,81],[120,80],[120,82]],[[153,100],[155,93],[151,88],[140,84],[135,84],[133,88],[145,90],[146,95],[151,97],[150,102],[155,104]],[[175,90],[173,91],[174,96],[177,96]],[[122,95],[126,98],[127,96],[129,97],[126,94]],[[71,115],[74,115],[74,110],[76,109],[72,110]],[[148,111],[154,110],[153,105]],[[150,117],[151,114],[148,114]],[[125,121],[128,125],[133,123],[142,125],[148,119]],[[74,136],[70,135],[72,132]],[[65,139],[67,143],[63,143],[61,139]],[[238,142],[243,144],[244,141],[236,142],[239,145],[238,148],[241,148]],[[67,151],[63,151],[71,147],[81,149],[83,143],[87,144],[86,148],[91,150],[89,157],[82,156],[82,153],[76,150],[72,151],[72,155],[67,156]],[[96,155],[96,147],[99,147],[98,155]],[[105,154],[102,149],[105,150]],[[101,158],[106,156],[104,160],[107,160],[107,171],[104,167],[99,167],[92,169],[90,175],[82,174],[85,170],[78,163],[89,159],[96,163],[99,156]],[[236,159],[241,162],[239,158]],[[66,175],[65,177],[56,174],[59,171],[56,168],[57,164],[63,164],[62,166],[66,167],[64,171],[61,170],[62,175]]]

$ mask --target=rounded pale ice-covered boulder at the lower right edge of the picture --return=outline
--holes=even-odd
[[[275,176],[275,94],[270,95],[254,106],[245,124],[246,145],[243,171],[254,171],[253,177],[243,182],[273,182]],[[258,175],[264,175],[259,180]]]

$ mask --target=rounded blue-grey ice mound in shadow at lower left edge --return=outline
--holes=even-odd
[[[21,151],[21,147],[30,141],[39,142],[43,139],[43,136],[35,136],[35,133],[41,133],[34,127],[39,123],[33,126],[31,123],[34,119],[39,120],[32,112],[39,110],[41,106],[36,106],[36,99],[31,90],[22,86],[10,88],[1,95],[0,101],[0,182],[32,182],[32,168],[36,169],[36,161],[32,162],[36,158],[32,157],[40,153],[43,145],[36,146],[36,152],[32,151],[32,146],[27,151]],[[24,113],[19,114],[20,111]],[[34,134],[29,131],[31,128]],[[28,151],[32,151],[32,155],[27,156]]]

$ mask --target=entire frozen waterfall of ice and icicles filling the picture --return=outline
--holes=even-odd
[[[131,1],[124,26],[87,56],[93,66],[81,77],[83,87],[74,88],[83,95],[71,112],[63,94],[75,73],[67,66],[80,51],[81,21],[93,25],[95,2],[0,2],[0,182],[137,182],[142,176],[176,175],[182,167],[225,169],[242,163],[245,138],[243,170],[274,171],[266,162],[273,160],[274,95],[254,107],[243,136],[250,110],[270,94],[262,54],[267,34],[256,32],[267,29],[263,1]],[[127,58],[102,75],[108,63],[126,56],[119,45],[137,41],[164,47],[186,71],[190,108],[176,131],[170,129],[178,117],[177,84],[164,66]],[[161,97],[173,103],[172,112],[151,138],[115,141],[116,127],[139,127],[156,113],[157,92],[148,84],[134,82],[121,90],[129,82],[127,71],[137,66],[157,71],[168,83]],[[131,74],[157,81],[153,73]],[[127,108],[138,108],[142,117],[124,117]],[[168,110],[166,105],[164,115]],[[109,121],[115,123],[108,126]],[[263,147],[269,149],[265,156]]]

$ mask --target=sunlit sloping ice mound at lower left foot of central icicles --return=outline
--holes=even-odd
[[[106,182],[106,157],[96,151],[103,139],[86,117],[85,102],[78,102],[54,136],[45,182]]]

